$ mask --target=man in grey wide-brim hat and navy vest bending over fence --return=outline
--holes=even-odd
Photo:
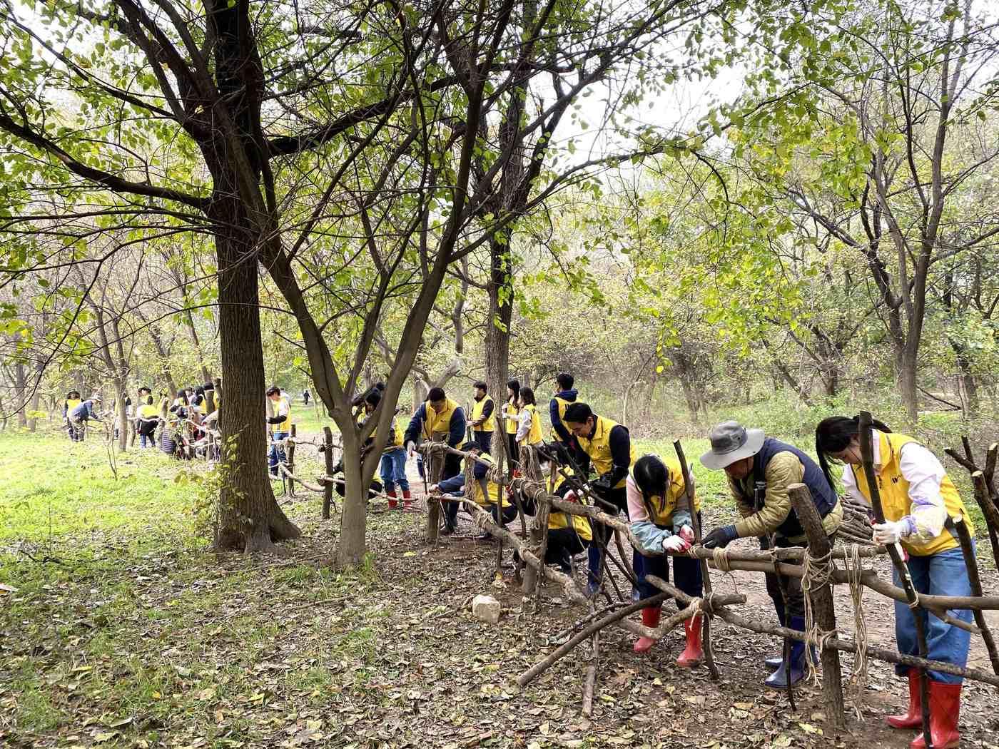
[[[829,487],[818,464],[797,447],[768,437],[762,429],[747,429],[737,421],[723,421],[711,429],[711,449],[700,456],[705,467],[722,469],[742,519],[714,528],[704,536],[706,548],[727,546],[735,538],[772,537],[774,546],[807,546],[801,523],[791,506],[787,488],[803,483],[822,518],[822,527],[833,534],[843,520],[839,498]],[[805,608],[801,580],[767,573],[766,592],[773,599],[781,625],[804,631]],[[774,689],[786,688],[804,678],[804,643],[794,640],[791,656],[768,658],[775,669],[763,682]],[[812,655],[814,658],[814,654]]]

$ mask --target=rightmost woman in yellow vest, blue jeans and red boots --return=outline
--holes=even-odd
[[[971,595],[968,569],[956,531],[946,526],[948,517],[962,516],[974,535],[971,518],[936,455],[905,434],[891,431],[880,421],[873,421],[871,441],[874,448],[874,471],[885,521],[874,525],[874,542],[900,543],[905,550],[906,566],[917,593],[933,595]],[[870,489],[860,456],[860,425],[856,416],[830,416],[815,428],[815,450],[826,480],[835,486],[830,461],[845,464],[842,481],[845,492],[870,504]],[[895,584],[901,585],[898,573]],[[899,652],[918,655],[916,627],[912,611],[905,603],[895,603],[895,638]],[[951,616],[971,623],[969,610],[948,611]],[[964,667],[968,660],[971,635],[953,624],[930,616],[924,609],[915,614],[923,620],[930,660]],[[895,666],[895,672],[909,679],[909,707],[904,715],[886,718],[893,728],[919,728],[922,724],[919,676],[908,666]],[[937,749],[957,746],[961,734],[957,720],[961,709],[960,676],[928,671],[930,678],[930,738]],[[920,733],[909,744],[923,749]]]

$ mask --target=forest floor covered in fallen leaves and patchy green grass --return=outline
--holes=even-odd
[[[871,661],[860,717],[831,736],[819,689],[797,690],[792,713],[761,686],[761,661],[778,643],[723,623],[718,683],[673,665],[682,630],[646,656],[624,632],[604,630],[587,720],[586,646],[522,691],[513,681],[582,612],[554,590],[533,610],[509,568],[505,587],[495,585],[496,546],[474,540],[468,520],[431,548],[423,515],[373,513],[369,562],[338,573],[328,564],[338,518],[320,520],[307,494],[285,505],[305,540],[284,556],[215,555],[190,530],[199,481],[176,463],[127,457],[115,481],[96,445],[0,441],[4,475],[39,455],[49,469],[12,481],[0,515],[0,582],[16,588],[0,592],[6,746],[901,749],[911,739],[880,722],[904,690],[884,664]],[[104,488],[76,495],[74,481]],[[46,524],[24,519],[43,511]],[[728,512],[709,503],[706,524]],[[994,591],[991,559],[987,567]],[[762,575],[712,577],[717,590],[749,596],[746,613],[773,619]],[[503,602],[499,624],[472,616],[480,592]],[[850,631],[848,604],[838,590]],[[868,593],[865,613],[871,640],[890,646],[890,606]],[[988,667],[979,643],[972,655]],[[844,657],[845,672],[851,665]],[[994,691],[965,693],[962,746],[999,745]]]

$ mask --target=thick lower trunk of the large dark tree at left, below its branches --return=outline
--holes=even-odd
[[[216,202],[209,213],[219,227],[215,248],[226,397],[219,412],[224,481],[215,547],[246,553],[271,551],[274,541],[298,538],[302,533],[278,506],[267,479],[264,350],[256,250],[246,229],[249,219],[232,197],[234,190],[227,191],[218,183],[216,190]]]

